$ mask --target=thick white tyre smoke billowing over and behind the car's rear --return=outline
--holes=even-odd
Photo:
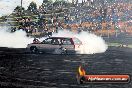
[[[83,46],[79,50],[80,54],[103,53],[108,48],[103,38],[88,32],[81,32],[79,34],[75,34],[69,31],[59,31],[59,33],[54,34],[53,36],[77,37],[83,43]]]

